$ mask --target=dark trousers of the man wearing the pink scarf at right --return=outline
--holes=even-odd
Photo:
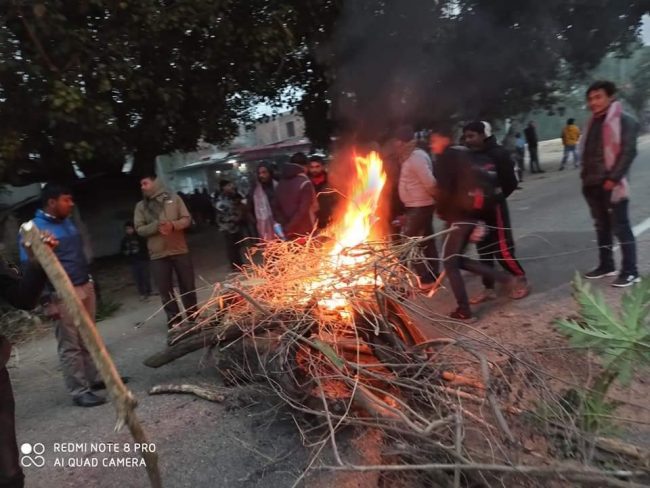
[[[612,193],[602,186],[586,186],[582,192],[596,227],[600,266],[615,269],[613,234],[623,255],[621,273],[636,275],[636,242],[628,216],[629,200],[612,203]]]

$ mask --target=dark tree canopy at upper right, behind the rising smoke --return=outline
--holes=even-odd
[[[308,132],[320,140],[328,127],[374,139],[405,122],[551,108],[562,75],[581,78],[607,52],[625,55],[648,11],[647,0],[315,3],[336,15],[329,27],[316,25],[327,36],[305,37],[294,83],[305,91]]]

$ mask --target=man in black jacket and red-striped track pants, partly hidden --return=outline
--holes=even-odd
[[[510,292],[511,298],[524,298],[530,293],[530,288],[526,272],[515,258],[515,242],[506,202],[506,198],[517,189],[515,165],[508,151],[497,143],[486,122],[467,124],[463,135],[465,144],[471,149],[474,164],[487,172],[494,189],[494,205],[484,215],[487,234],[478,245],[479,256],[488,266],[494,266],[494,261],[498,261],[517,280],[517,286]],[[494,284],[494,280],[485,276],[485,289],[473,297],[471,303],[478,304],[494,299]]]

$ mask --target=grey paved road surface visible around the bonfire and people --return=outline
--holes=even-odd
[[[544,292],[565,285],[576,269],[594,266],[597,256],[577,172],[557,172],[557,152],[547,151],[542,156],[547,173],[529,177],[524,189],[510,200],[517,251],[535,290],[525,306],[549,300],[550,295]],[[632,192],[632,221],[639,225],[650,217],[650,139],[640,144],[640,155],[632,171]],[[650,239],[650,231],[641,239]],[[205,257],[205,263],[216,261],[216,254]],[[650,252],[641,256],[645,260],[640,263],[641,270],[648,273]],[[441,295],[446,301],[452,300],[447,292]],[[450,305],[445,304],[441,311]],[[197,373],[198,355],[159,370],[142,365],[143,357],[164,347],[165,326],[160,317],[141,328],[133,326],[156,308],[153,302],[143,306],[136,300],[129,301],[118,316],[102,322],[99,328],[120,372],[134,378],[129,386],[140,401],[138,413],[160,453],[166,486],[291,486],[305,466],[307,451],[292,451],[300,439],[290,422],[272,422],[277,412],[266,407],[228,411],[193,398],[147,396],[147,390],[159,383],[215,381],[214,372],[209,369]],[[42,442],[48,448],[45,467],[26,469],[26,486],[146,486],[144,472],[138,468],[54,465],[57,457],[78,457],[82,461],[97,457],[87,452],[56,455],[51,452],[55,442],[123,443],[129,437],[124,431],[113,433],[111,406],[82,410],[71,405],[58,370],[52,335],[18,349],[19,361],[14,363],[11,374],[16,390],[19,442]],[[278,457],[283,460],[273,463]]]

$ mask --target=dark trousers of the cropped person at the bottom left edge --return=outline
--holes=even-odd
[[[0,367],[0,488],[22,488],[24,475],[18,462],[14,392],[9,372]]]

